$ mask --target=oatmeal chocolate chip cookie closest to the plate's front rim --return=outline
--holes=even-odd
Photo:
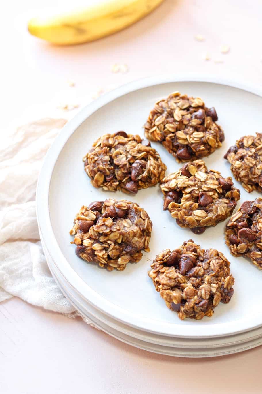
[[[227,304],[233,296],[229,266],[221,252],[200,249],[189,240],[172,252],[159,253],[148,275],[167,307],[178,312],[181,320],[199,320],[212,316],[220,301]]]

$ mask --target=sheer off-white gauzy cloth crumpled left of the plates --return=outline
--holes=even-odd
[[[44,156],[65,123],[64,119],[30,123],[8,135],[1,147],[0,302],[16,296],[75,317],[79,313],[49,271],[35,209],[37,178]]]

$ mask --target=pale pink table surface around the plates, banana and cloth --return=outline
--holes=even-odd
[[[62,112],[60,102],[82,107],[99,89],[154,74],[213,72],[261,85],[260,1],[166,0],[120,33],[71,47],[51,46],[26,32],[27,19],[40,6],[10,0],[0,15],[2,137],[14,124],[48,115],[70,118],[77,111]],[[196,41],[196,34],[205,41]],[[221,54],[221,45],[230,52]],[[207,52],[210,61],[204,60]],[[129,72],[113,74],[114,63],[126,63]],[[68,87],[68,79],[75,87]],[[0,304],[1,394],[258,393],[261,361],[262,347],[214,359],[156,355],[79,318],[15,298]]]

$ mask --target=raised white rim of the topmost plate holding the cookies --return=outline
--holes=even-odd
[[[111,101],[118,99],[128,93],[134,91],[152,87],[154,85],[170,84],[177,82],[202,82],[219,84],[224,86],[234,87],[241,89],[249,93],[255,94],[262,98],[262,89],[259,89],[255,85],[243,84],[238,80],[221,78],[214,74],[194,73],[194,72],[183,72],[183,73],[172,73],[168,75],[151,76],[129,82],[128,84],[122,85],[117,89],[114,89],[105,95],[94,100],[88,104],[82,110],[80,110],[70,121],[63,126],[62,132],[58,134],[49,148],[42,168],[38,177],[37,190],[36,190],[36,212],[37,222],[40,232],[45,240],[46,248],[48,253],[55,262],[57,268],[63,273],[66,280],[75,288],[75,290],[81,293],[81,296],[90,302],[94,307],[101,310],[105,314],[112,316],[127,325],[131,325],[143,331],[149,331],[161,335],[174,335],[184,338],[200,338],[200,337],[214,337],[224,335],[234,335],[235,333],[249,331],[262,325],[262,316],[259,320],[258,316],[249,318],[248,322],[242,329],[237,329],[236,326],[239,320],[228,323],[211,324],[205,327],[203,326],[184,326],[181,324],[159,322],[149,318],[138,316],[132,312],[127,312],[123,308],[115,305],[108,301],[105,297],[101,296],[95,290],[93,290],[83,279],[74,271],[70,266],[65,256],[63,255],[59,244],[55,238],[55,234],[51,225],[51,218],[49,213],[49,188],[50,182],[53,175],[53,169],[59,158],[59,154],[64,148],[64,145],[68,139],[73,135],[75,130],[94,112],[99,108],[105,106]],[[55,242],[54,242],[55,240]],[[78,289],[78,290],[77,290]],[[243,319],[241,319],[243,321]],[[152,329],[154,327],[154,329]],[[192,331],[194,331],[192,333]],[[212,334],[203,334],[203,331],[212,332]]]

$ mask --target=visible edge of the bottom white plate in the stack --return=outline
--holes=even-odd
[[[48,254],[48,252],[47,252]],[[157,342],[147,342],[145,339],[136,338],[134,336],[130,336],[127,333],[123,333],[123,331],[118,331],[117,329],[113,328],[111,325],[108,325],[106,321],[101,320],[94,316],[93,313],[90,313],[85,308],[82,308],[81,303],[79,303],[70,291],[68,291],[68,287],[66,284],[61,281],[61,277],[59,276],[59,272],[57,268],[53,264],[49,265],[51,273],[57,283],[59,284],[62,292],[68,298],[68,300],[72,303],[72,305],[81,312],[81,314],[88,318],[97,328],[101,329],[105,333],[114,336],[114,338],[121,340],[129,345],[135,346],[136,348],[151,351],[154,353],[175,356],[175,357],[217,357],[222,355],[229,355],[233,353],[238,353],[240,351],[245,351],[248,349],[255,348],[256,346],[260,346],[262,344],[262,337],[259,336],[258,338],[247,339],[245,342],[242,343],[235,343],[232,342],[231,344],[225,344],[224,346],[219,346],[219,348],[215,348],[213,346],[202,346],[198,348],[196,345],[193,347],[189,346],[178,346],[176,344],[172,344],[168,346],[166,344],[159,344]],[[58,274],[58,275],[57,275]],[[244,335],[244,334],[242,334]],[[232,336],[231,336],[232,337]],[[221,340],[222,338],[214,338],[216,340]],[[188,341],[184,339],[183,341]],[[199,341],[197,339],[194,340],[195,342]]]

